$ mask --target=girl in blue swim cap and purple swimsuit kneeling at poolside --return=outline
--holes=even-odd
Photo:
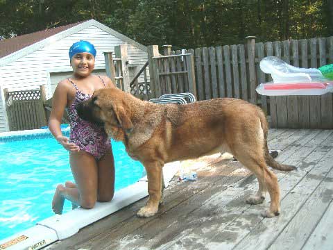
[[[69,163],[76,183],[60,184],[53,196],[52,209],[62,213],[65,199],[73,206],[93,208],[96,201],[110,201],[114,194],[114,159],[110,140],[102,126],[78,117],[76,105],[92,97],[95,90],[114,88],[110,78],[92,75],[96,50],[87,41],[75,42],[69,49],[73,75],[58,83],[53,94],[49,128],[54,138],[69,151]],[[60,130],[65,108],[70,118],[71,135]]]

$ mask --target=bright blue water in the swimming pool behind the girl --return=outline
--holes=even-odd
[[[69,153],[56,140],[50,135],[27,139],[0,140],[0,240],[54,215],[56,186],[74,181]],[[119,190],[141,178],[144,167],[129,158],[121,142],[112,141],[112,149]],[[70,209],[66,201],[64,213]]]

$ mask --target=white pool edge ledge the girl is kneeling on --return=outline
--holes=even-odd
[[[165,185],[179,170],[180,162],[168,163],[163,167]],[[54,215],[37,222],[37,226],[16,233],[8,238],[0,240],[0,249],[41,249],[48,244],[69,238],[93,222],[108,216],[121,208],[148,196],[148,183],[146,176],[133,185],[129,185],[114,193],[112,201],[96,203],[92,209],[76,208],[63,215]],[[22,240],[23,239],[23,240]],[[22,240],[22,241],[20,241]],[[2,247],[2,248],[1,248]]]

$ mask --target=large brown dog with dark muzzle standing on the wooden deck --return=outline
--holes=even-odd
[[[289,171],[268,153],[268,125],[262,110],[240,99],[211,99],[186,105],[142,101],[117,88],[102,89],[78,107],[83,119],[104,124],[114,140],[125,144],[148,175],[149,199],[137,215],[155,215],[162,201],[164,163],[228,151],[257,176],[259,190],[246,201],[259,204],[269,192],[271,206],[264,213],[280,213],[278,179],[267,165]]]

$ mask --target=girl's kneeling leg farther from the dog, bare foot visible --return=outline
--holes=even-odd
[[[85,151],[70,153],[69,163],[77,188],[58,185],[52,201],[54,213],[62,213],[65,199],[83,208],[93,208],[96,203],[99,174],[94,156]]]

